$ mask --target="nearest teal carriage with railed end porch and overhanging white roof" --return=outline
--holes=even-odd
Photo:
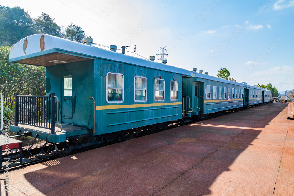
[[[123,137],[124,130],[164,128],[182,118],[182,78],[192,76],[185,69],[118,53],[115,47],[94,47],[89,38],[82,44],[46,34],[20,40],[9,61],[46,67],[46,96],[16,94],[17,119],[10,130],[28,130],[53,142],[80,135],[111,141]],[[41,98],[51,102],[39,103]],[[32,104],[21,108],[35,102],[38,111],[26,111]]]

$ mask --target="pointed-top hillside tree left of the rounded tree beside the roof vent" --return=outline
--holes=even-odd
[[[35,27],[39,33],[61,37],[61,27],[54,20],[49,14],[42,12],[41,16],[36,19]]]

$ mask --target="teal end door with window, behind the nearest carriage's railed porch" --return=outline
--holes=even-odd
[[[61,71],[61,122],[74,124],[72,70]]]

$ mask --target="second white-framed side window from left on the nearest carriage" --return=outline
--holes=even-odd
[[[147,78],[135,76],[134,78],[134,100],[143,102],[147,100]]]

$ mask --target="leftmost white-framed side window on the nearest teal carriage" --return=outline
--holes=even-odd
[[[124,77],[120,73],[107,73],[107,102],[123,102]]]

